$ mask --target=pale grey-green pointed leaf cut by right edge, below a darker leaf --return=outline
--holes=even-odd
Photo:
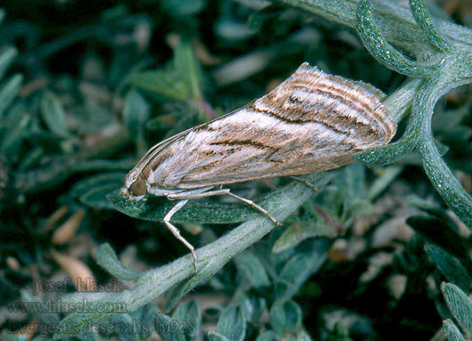
[[[460,288],[452,283],[442,283],[441,292],[448,305],[450,313],[464,329],[472,333],[472,300]]]

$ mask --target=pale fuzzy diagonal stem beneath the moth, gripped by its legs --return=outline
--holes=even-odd
[[[305,179],[317,188],[323,188],[336,174],[337,171],[310,174]],[[274,192],[270,202],[265,203],[266,206],[264,207],[269,210],[273,217],[279,221],[284,221],[312,195],[313,192],[310,188],[294,181],[285,185],[281,190]],[[132,290],[124,290],[123,292],[78,292],[62,297],[61,301],[71,303],[86,299],[92,308],[99,302],[122,303],[126,307],[126,311],[136,310],[182,281],[187,280],[184,282],[185,285],[183,287],[185,292],[187,292],[194,288],[194,286],[208,280],[208,278],[228,263],[231,258],[255,242],[258,242],[274,227],[275,225],[269,218],[258,215],[258,217],[249,219],[211,244],[196,250],[199,259],[198,278],[194,277],[192,257],[188,254],[168,265],[142,274]],[[62,304],[61,306],[67,306],[67,304]],[[71,315],[62,320],[58,330],[66,326],[77,326],[81,330],[81,327],[87,323],[114,314],[116,313],[97,313],[94,311],[71,313]],[[62,334],[60,333],[56,334],[56,338],[61,336]]]

